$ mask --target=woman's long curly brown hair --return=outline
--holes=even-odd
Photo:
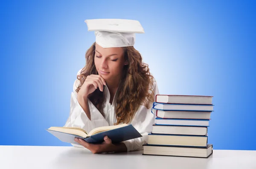
[[[134,117],[140,105],[150,108],[149,103],[154,101],[153,76],[149,72],[148,64],[142,62],[140,52],[133,46],[123,47],[125,60],[128,65],[124,66],[122,79],[116,92],[116,123],[129,123]],[[86,77],[90,74],[98,74],[94,64],[95,42],[86,51],[86,65],[77,75],[80,81],[76,92],[79,92]],[[97,88],[88,98],[94,106],[102,113],[102,105],[105,103],[104,92]],[[146,112],[145,112],[146,113]],[[103,115],[103,113],[102,113]]]

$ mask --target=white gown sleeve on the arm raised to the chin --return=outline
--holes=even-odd
[[[81,72],[81,69],[79,70]],[[92,129],[101,126],[109,126],[108,122],[99,112],[99,110],[93,105],[93,103],[88,99],[89,111],[91,120],[87,117],[83,108],[80,106],[77,100],[77,86],[79,86],[80,81],[75,80],[73,84],[73,92],[71,93],[70,98],[70,113],[64,127],[79,127],[84,129],[87,132],[90,132]],[[83,147],[80,145],[72,144],[73,146]]]

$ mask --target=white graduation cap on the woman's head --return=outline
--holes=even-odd
[[[134,46],[135,33],[145,33],[140,22],[126,19],[84,20],[95,31],[96,43],[103,48]]]

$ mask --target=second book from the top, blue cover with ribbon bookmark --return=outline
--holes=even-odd
[[[154,109],[179,111],[213,111],[213,105],[154,103]]]

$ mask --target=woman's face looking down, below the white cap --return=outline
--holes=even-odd
[[[94,63],[98,74],[105,80],[119,79],[123,66],[127,64],[122,47],[102,48],[97,43],[95,45]]]

